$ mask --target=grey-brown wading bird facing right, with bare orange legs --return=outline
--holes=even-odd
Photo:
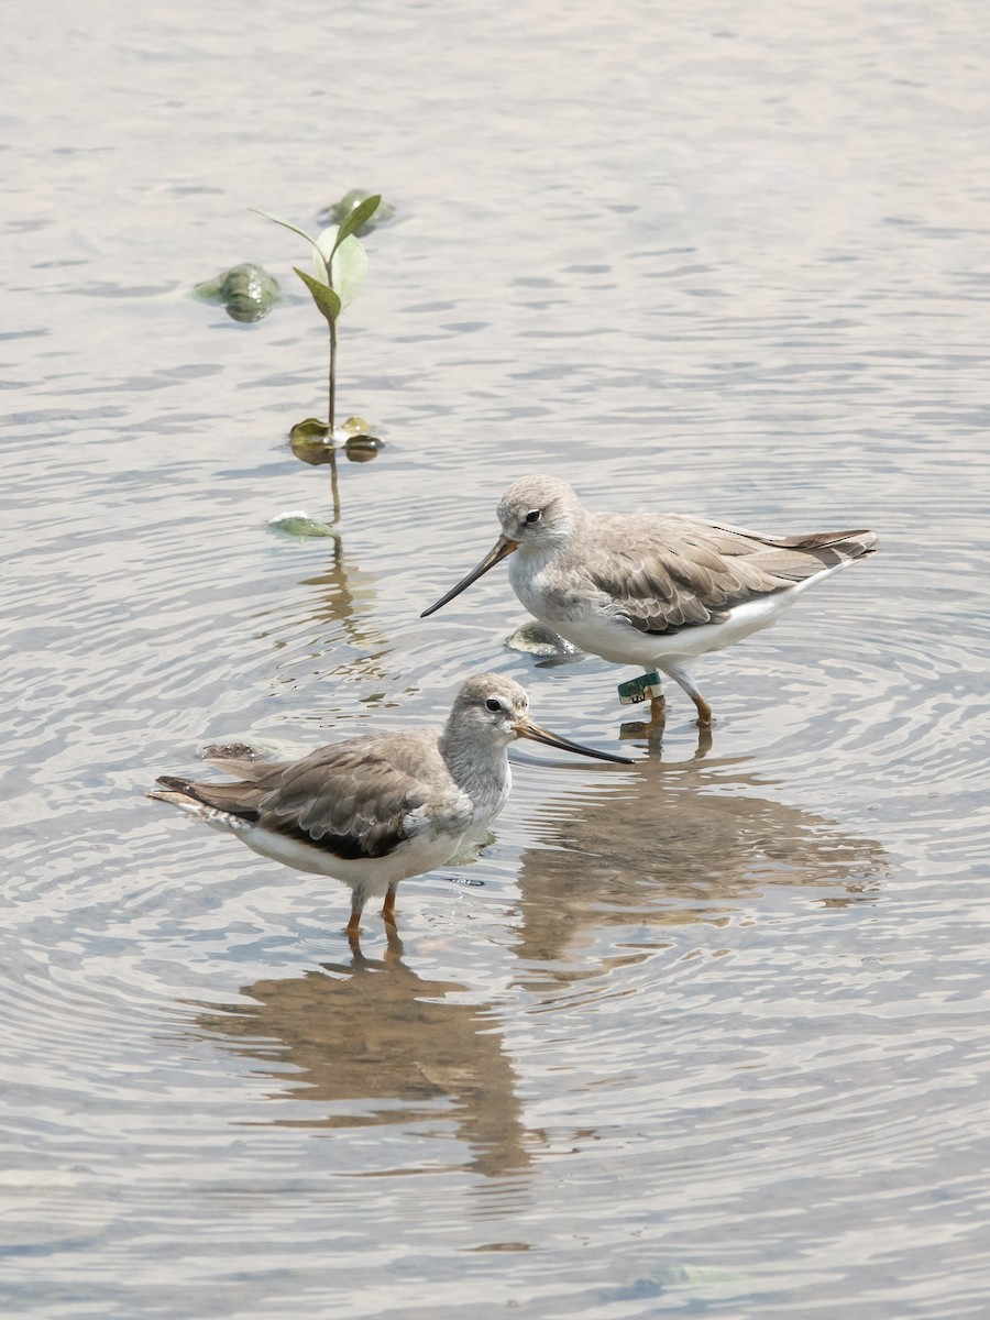
[[[162,775],[148,796],[227,830],[263,857],[343,880],[351,887],[354,941],[370,898],[384,895],[381,915],[393,927],[399,882],[450,861],[499,814],[512,785],[507,748],[516,738],[631,764],[548,733],[528,710],[517,682],[483,673],[462,685],[440,734],[367,734],[292,762],[214,759],[240,780]]]

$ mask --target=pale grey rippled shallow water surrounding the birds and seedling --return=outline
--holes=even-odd
[[[990,1305],[990,11],[25,5],[5,38],[0,1296],[37,1320],[962,1320]],[[292,265],[367,239],[342,549]],[[189,297],[238,261],[288,294]],[[498,668],[616,747],[628,677],[418,611],[527,471],[883,553],[705,665],[623,770],[342,887],[144,800],[249,738],[437,725]],[[462,883],[450,883],[451,876]],[[474,883],[466,884],[465,880]]]

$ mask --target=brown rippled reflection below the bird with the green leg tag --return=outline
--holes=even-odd
[[[607,927],[718,924],[770,886],[814,890],[818,907],[874,900],[882,845],[766,791],[725,758],[645,758],[595,796],[544,801],[528,826],[548,846],[521,854],[516,952],[554,961]]]

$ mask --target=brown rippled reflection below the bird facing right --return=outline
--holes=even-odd
[[[302,977],[256,981],[242,990],[252,1003],[210,1007],[195,1026],[271,1068],[280,1090],[269,1098],[292,1104],[290,1115],[273,1111],[272,1126],[414,1126],[428,1138],[453,1126],[470,1150],[454,1167],[517,1173],[539,1134],[523,1127],[495,1019],[450,998],[463,990],[411,972],[393,936],[384,958],[354,952]]]

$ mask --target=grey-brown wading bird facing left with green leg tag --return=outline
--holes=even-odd
[[[619,686],[623,701],[651,697],[663,721],[663,669],[690,696],[698,725],[711,708],[692,669],[770,627],[797,597],[870,554],[874,532],[764,536],[681,513],[591,513],[566,482],[523,477],[499,502],[502,536],[433,614],[512,556],[508,579],[525,609],[568,642],[612,664],[649,673]]]

